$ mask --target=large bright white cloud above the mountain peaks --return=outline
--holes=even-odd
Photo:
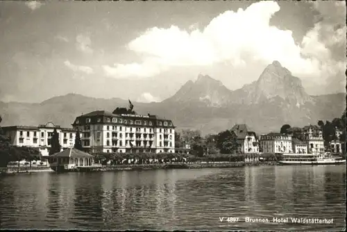
[[[104,66],[104,71],[118,78],[146,77],[174,67],[218,63],[246,67],[249,61],[269,64],[278,60],[296,76],[323,78],[336,73],[340,61],[331,60],[331,51],[325,45],[329,42],[319,37],[319,24],[305,35],[302,43],[296,44],[291,31],[269,25],[279,10],[276,2],[261,1],[246,10],[228,10],[214,17],[202,31],[194,27],[185,31],[174,25],[149,28],[127,45],[142,57],[142,63],[117,63]],[[339,31],[343,33],[343,29]],[[340,38],[328,37],[332,44]]]

